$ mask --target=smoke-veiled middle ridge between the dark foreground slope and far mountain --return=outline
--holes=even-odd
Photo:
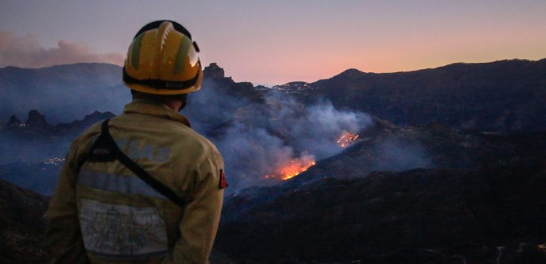
[[[546,156],[546,133],[490,134],[445,125],[396,127],[376,120],[344,152],[310,167],[291,180],[293,186],[323,177],[354,178],[371,171],[415,168],[475,169]]]

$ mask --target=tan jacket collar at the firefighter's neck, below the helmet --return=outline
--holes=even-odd
[[[180,115],[178,112],[172,110],[164,104],[148,99],[133,99],[133,101],[125,105],[123,112],[136,112],[144,115],[163,117],[166,119],[177,121],[179,123],[183,123],[183,125],[186,125],[189,128],[192,127],[192,125],[190,125],[190,121],[188,121],[187,118],[183,115]]]

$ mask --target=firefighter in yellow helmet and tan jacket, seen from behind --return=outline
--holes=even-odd
[[[133,101],[71,144],[46,213],[52,263],[208,263],[223,159],[179,114],[203,82],[199,49],[174,21],[131,43],[123,80]]]

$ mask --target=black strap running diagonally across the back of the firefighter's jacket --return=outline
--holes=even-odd
[[[106,162],[119,160],[120,163],[125,165],[130,171],[133,171],[138,178],[150,185],[155,191],[158,191],[163,196],[167,197],[174,204],[179,206],[184,205],[184,201],[174,191],[166,187],[165,184],[159,182],[153,178],[150,173],[142,169],[137,163],[131,160],[126,154],[124,154],[120,147],[117,146],[114,139],[110,135],[108,123],[110,119],[106,119],[102,122],[102,129],[100,136],[93,143],[91,149],[89,149],[89,161]]]

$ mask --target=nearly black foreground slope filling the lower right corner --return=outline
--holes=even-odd
[[[501,263],[544,263],[545,187],[545,160],[328,178],[224,222],[218,248],[243,263],[494,263],[503,247]]]

